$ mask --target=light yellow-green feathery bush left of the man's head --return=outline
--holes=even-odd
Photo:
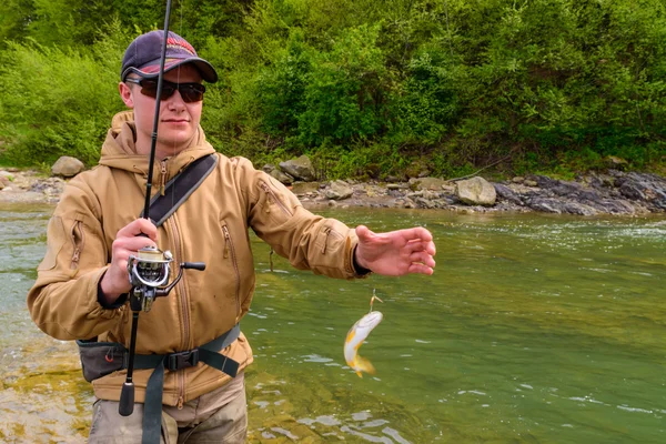
[[[19,165],[64,154],[97,162],[109,113],[122,104],[118,70],[109,61],[118,60],[127,39],[114,37],[81,51],[9,43],[0,59],[3,158]]]

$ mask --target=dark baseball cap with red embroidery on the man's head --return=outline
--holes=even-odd
[[[122,58],[120,80],[124,82],[130,72],[134,72],[144,79],[157,78],[160,73],[163,41],[164,31],[159,30],[147,32],[135,38]],[[169,31],[164,72],[184,63],[191,63],[196,67],[201,77],[206,82],[214,83],[218,81],[218,72],[215,72],[213,65],[196,56],[196,51],[194,51],[194,48],[185,39],[175,32]]]

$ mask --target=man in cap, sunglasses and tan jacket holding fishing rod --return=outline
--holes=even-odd
[[[153,31],[128,47],[119,91],[132,111],[113,118],[99,167],[68,184],[49,222],[48,251],[28,306],[49,335],[89,340],[81,346],[84,374],[112,365],[87,376],[98,397],[90,443],[141,442],[142,434],[167,443],[241,443],[246,435],[243,370],[253,361],[248,340],[236,327],[254,290],[248,229],[293,266],[340,279],[371,271],[432,274],[435,245],[423,228],[377,234],[314,215],[246,159],[215,153],[199,122],[202,80],[215,82],[218,74],[173,32],[168,39],[157,161],[149,165],[162,39],[163,31]],[[152,189],[161,193],[172,178],[210,154],[216,160],[212,172],[164,224],[158,229],[138,219],[150,168]],[[144,248],[169,250],[178,263],[204,262],[206,270],[185,272],[171,294],[141,314],[137,359],[164,355],[160,363],[167,364],[138,367],[133,374],[138,404],[131,415],[121,416],[118,401],[127,365],[112,351],[118,343],[129,346],[128,262]],[[225,363],[238,363],[238,370],[179,361],[220,337],[231,343],[213,353],[225,356]],[[155,384],[150,376],[163,371],[160,365],[168,370],[163,383]],[[162,401],[157,402],[157,435],[150,425],[153,403],[148,401],[154,393]]]

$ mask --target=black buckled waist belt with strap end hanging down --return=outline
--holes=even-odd
[[[138,354],[134,356],[134,369],[154,369],[145,386],[145,401],[143,402],[143,437],[144,444],[160,442],[162,427],[162,391],[164,389],[164,369],[170,372],[186,369],[203,362],[211,367],[235,377],[239,363],[218,353],[234,342],[241,333],[240,324],[196,349],[170,354]],[[127,354],[125,354],[127,356]],[[123,360],[123,369],[127,360]]]

